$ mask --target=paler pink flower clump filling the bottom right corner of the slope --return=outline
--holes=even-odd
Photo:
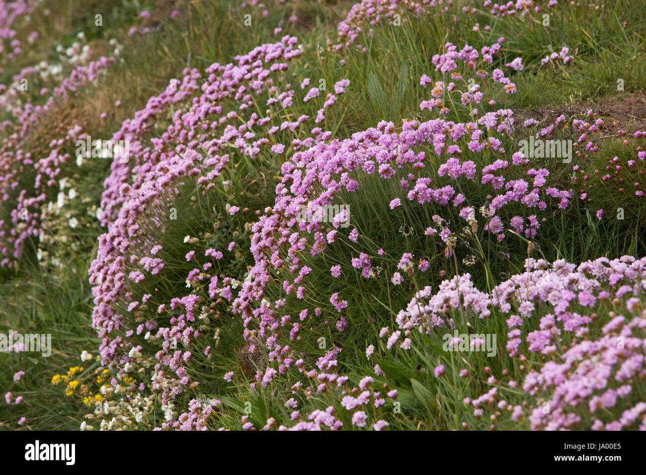
[[[507,315],[510,331],[506,350],[521,364],[526,361],[524,352],[555,358],[525,376],[523,390],[534,398],[535,405],[528,415],[531,427],[621,430],[634,428],[637,423],[645,430],[646,404],[635,403],[630,395],[634,378],[646,375],[646,310],[642,303],[646,258],[599,258],[579,266],[563,260],[548,264],[545,260],[527,259],[526,269],[526,273],[497,285],[491,296],[483,294],[478,300],[464,297],[464,311],[475,314],[485,306]],[[459,308],[458,289],[454,284],[447,288],[448,282],[444,280],[435,295],[430,287],[418,292],[406,310],[397,315],[399,328],[412,334],[413,328],[428,333],[433,326],[443,326],[438,311],[444,308],[438,303],[453,310]],[[462,276],[459,292],[470,295],[473,291],[468,275]],[[602,326],[600,335],[593,330],[598,302],[615,309],[620,308],[621,302],[625,304],[623,315],[609,311],[610,321]],[[539,330],[528,332],[523,341],[522,326],[528,319],[539,317]],[[399,332],[393,335],[399,336]],[[380,336],[386,337],[388,332]],[[391,339],[392,336],[387,348],[393,346]],[[566,341],[570,343],[565,345]],[[494,377],[488,381],[497,383]],[[515,383],[510,381],[510,386]],[[495,403],[499,397],[494,387],[477,399],[467,398],[465,403],[475,407],[475,416],[481,416],[483,406]],[[513,420],[525,416],[521,406],[512,407],[502,399],[497,406],[510,410]],[[603,409],[618,407],[623,408],[620,419],[608,420]],[[592,421],[591,425],[582,425],[587,419]]]

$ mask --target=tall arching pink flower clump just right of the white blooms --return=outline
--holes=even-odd
[[[185,70],[177,90],[169,87],[151,98],[146,109],[137,112],[134,120],[124,121],[113,136],[115,140],[130,140],[132,145],[130,160],[115,160],[105,182],[103,221],[108,231],[99,238],[98,255],[89,269],[90,283],[94,285],[93,326],[103,339],[99,348],[103,363],[120,368],[129,363],[129,350],[133,341],[141,338],[138,335],[158,341],[160,350],[154,357],[159,364],[154,367],[151,387],[162,390],[164,403],[188,385],[199,383],[191,381],[186,369],[191,352],[176,350],[175,343],[195,344],[202,336],[198,318],[216,315],[215,306],[231,301],[237,284],[232,277],[218,274],[217,266],[213,266],[222,259],[223,251],[206,249],[204,257],[209,259],[205,262],[202,255],[191,250],[185,260],[196,267],[185,277],[187,287],[193,288],[186,295],[160,301],[152,292],[141,295],[141,291],[133,291],[136,284],[138,288],[154,287],[155,279],[159,279],[154,276],[163,277],[166,272],[167,262],[160,257],[163,247],[149,237],[171,226],[169,211],[187,180],[195,180],[206,193],[236,154],[254,159],[262,154],[284,153],[287,147],[298,151],[329,138],[329,132],[320,127],[314,127],[309,134],[302,129],[310,120],[324,120],[326,110],[337,101],[331,93],[320,99],[323,105],[317,118],[300,116],[295,121],[276,122],[282,115],[280,111],[298,101],[289,84],[283,90],[278,87],[284,82],[287,61],[300,54],[294,48],[296,43],[295,37],[286,36],[278,43],[262,45],[237,57],[235,65],[215,63],[203,80],[196,71]],[[202,84],[198,85],[200,80]],[[335,92],[342,94],[348,85],[347,80],[339,81]],[[196,96],[198,90],[201,94]],[[258,103],[268,108],[265,116],[256,112]],[[188,109],[178,109],[173,114],[161,140],[150,139],[149,131],[158,115],[169,105],[183,104]],[[234,125],[241,120],[241,125]],[[271,145],[278,132],[292,137],[288,145]],[[198,153],[198,149],[204,152]],[[238,212],[238,206],[228,208],[229,215]],[[234,252],[235,246],[232,241],[227,252]],[[302,269],[300,279],[306,273]],[[213,302],[205,303],[209,301]],[[347,302],[339,300],[334,304],[342,309]],[[151,312],[152,308],[157,311]],[[339,324],[342,326],[342,322]],[[208,353],[209,348],[205,351]],[[155,381],[170,381],[170,385],[162,388]],[[263,384],[269,381],[271,374],[266,374]]]

